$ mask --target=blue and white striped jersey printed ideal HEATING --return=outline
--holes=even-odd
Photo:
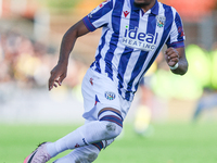
[[[102,27],[91,68],[117,80],[119,93],[129,101],[165,43],[184,47],[179,14],[158,1],[144,13],[133,0],[107,0],[82,21],[90,32]]]

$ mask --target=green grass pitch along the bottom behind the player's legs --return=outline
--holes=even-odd
[[[22,163],[38,143],[54,141],[78,126],[0,125],[0,163]],[[217,163],[217,123],[163,123],[153,128],[150,137],[141,137],[125,124],[122,138],[94,163]]]

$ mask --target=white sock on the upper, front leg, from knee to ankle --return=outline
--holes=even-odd
[[[94,121],[85,124],[76,130],[55,142],[47,145],[48,153],[53,158],[56,154],[77,147],[115,138],[122,131],[122,127],[107,121]]]

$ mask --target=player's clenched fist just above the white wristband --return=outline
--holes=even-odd
[[[175,66],[179,62],[179,52],[175,48],[168,48],[165,51],[165,60],[169,66]]]

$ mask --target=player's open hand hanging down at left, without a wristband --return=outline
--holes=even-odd
[[[67,74],[67,64],[58,64],[52,71],[51,76],[49,78],[49,90],[54,87],[62,85],[63,79],[66,77]]]

